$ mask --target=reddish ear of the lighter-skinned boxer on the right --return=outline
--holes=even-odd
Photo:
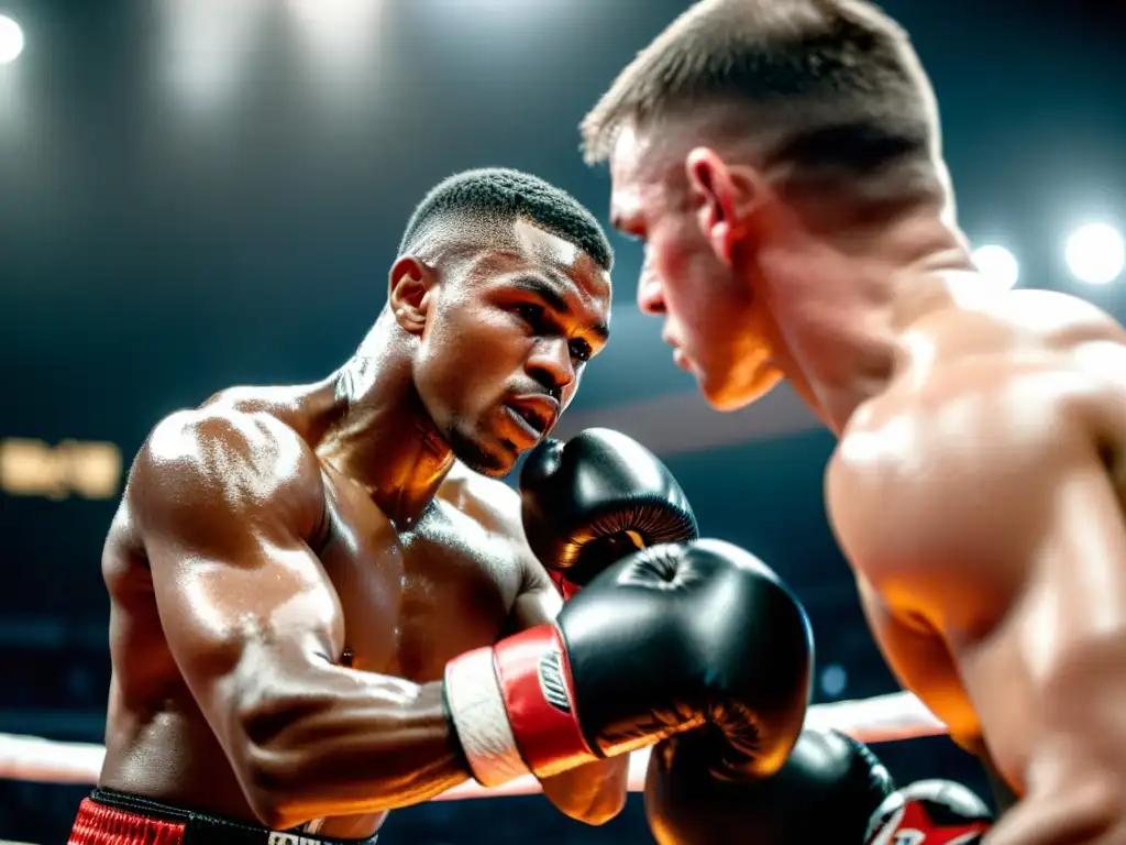
[[[689,152],[685,169],[691,192],[703,201],[697,212],[700,231],[720,260],[731,266],[766,198],[766,185],[753,168],[731,166],[707,146]]]

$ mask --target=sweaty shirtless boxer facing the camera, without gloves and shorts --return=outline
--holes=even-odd
[[[489,477],[605,345],[610,252],[562,192],[474,171],[423,202],[402,256],[339,372],[218,393],[137,455],[102,555],[101,789],[366,837],[466,780],[445,664],[562,605],[519,497]],[[543,786],[600,824],[625,773],[598,760]]]

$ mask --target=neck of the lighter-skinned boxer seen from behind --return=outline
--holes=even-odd
[[[948,276],[973,264],[953,215],[941,210],[905,215],[872,234],[819,239],[797,255],[766,273],[781,350],[776,363],[840,436],[856,409],[896,375],[908,328],[949,308]]]

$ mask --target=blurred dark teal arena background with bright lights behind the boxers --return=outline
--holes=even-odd
[[[606,220],[578,122],[683,0],[0,0],[0,733],[102,741],[99,553],[129,461],[231,384],[319,379],[383,305],[403,225],[456,171],[503,166]],[[998,284],[1126,319],[1126,19],[1117,0],[886,0],[941,103],[963,226]],[[808,610],[816,703],[893,693],[828,527],[832,438],[787,389],[709,411],[634,304],[564,433],[619,428],[704,534]],[[2,754],[0,739],[0,754]],[[949,739],[874,746],[896,780],[986,793]],[[52,780],[48,775],[39,775]],[[65,842],[83,784],[0,781],[0,838]],[[393,812],[381,842],[652,842],[642,800],[588,828],[539,795]]]

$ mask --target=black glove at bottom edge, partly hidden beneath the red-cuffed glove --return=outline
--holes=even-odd
[[[859,845],[894,789],[861,742],[805,730],[771,777],[711,776],[715,737],[695,730],[662,740],[645,777],[645,815],[659,845]]]

